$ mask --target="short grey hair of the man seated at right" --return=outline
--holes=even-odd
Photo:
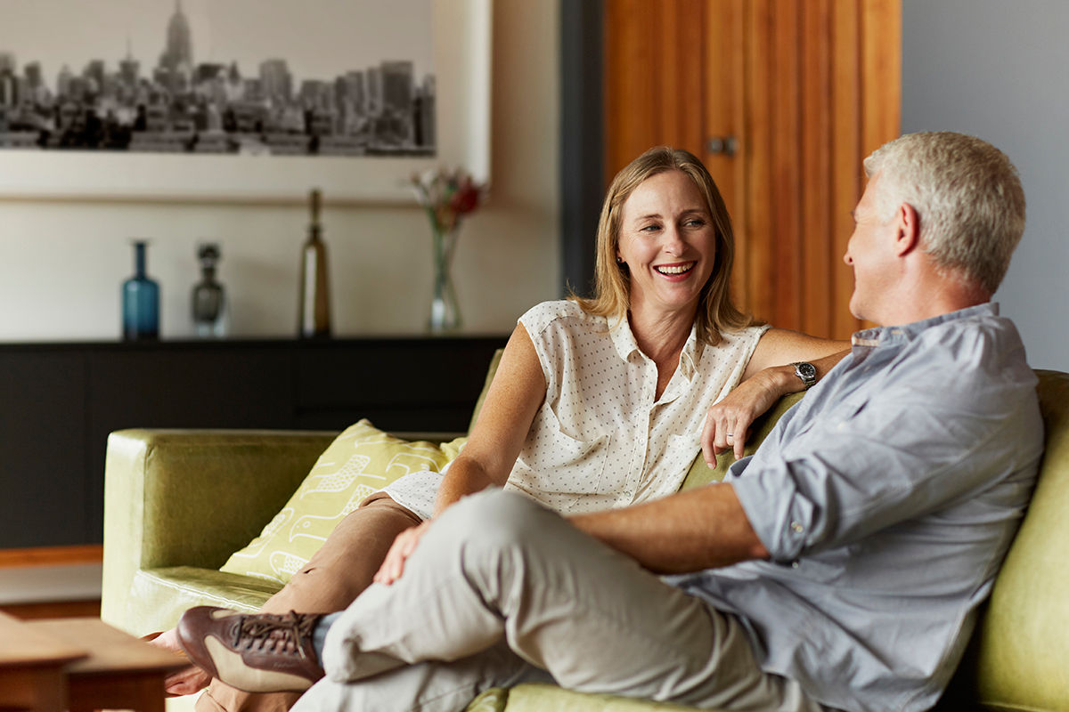
[[[935,264],[994,294],[1024,233],[1024,189],[1009,158],[972,136],[908,133],[865,159],[865,174],[877,173],[883,219],[911,205]]]

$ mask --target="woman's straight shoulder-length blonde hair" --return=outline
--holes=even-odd
[[[695,315],[698,341],[715,346],[719,344],[723,331],[747,327],[753,320],[735,307],[729,294],[731,265],[734,262],[734,234],[731,232],[727,206],[706,167],[694,154],[682,148],[650,148],[613,178],[598,221],[594,295],[590,298],[571,295],[570,299],[588,314],[618,318],[626,315],[631,306],[631,276],[628,266],[617,264],[616,260],[623,204],[639,184],[667,171],[682,171],[694,181],[704,197],[716,230],[713,273],[701,289],[698,313]]]

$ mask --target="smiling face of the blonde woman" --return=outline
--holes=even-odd
[[[623,204],[617,256],[631,273],[631,308],[697,308],[716,262],[716,228],[701,191],[682,171],[638,184]]]

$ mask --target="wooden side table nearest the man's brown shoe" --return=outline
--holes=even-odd
[[[26,621],[32,632],[88,651],[64,668],[69,712],[164,712],[164,680],[189,662],[119,631],[99,618]]]

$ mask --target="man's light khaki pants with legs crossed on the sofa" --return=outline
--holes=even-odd
[[[452,506],[397,583],[357,598],[323,664],[295,711],[453,712],[489,687],[546,679],[695,707],[821,709],[761,671],[734,618],[500,491]]]

